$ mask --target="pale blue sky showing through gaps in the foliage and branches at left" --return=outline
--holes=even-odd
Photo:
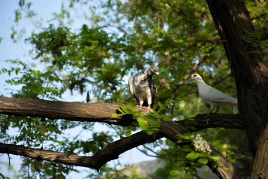
[[[28,2],[27,0],[25,0]],[[31,46],[24,43],[24,41],[19,41],[18,43],[13,43],[10,39],[11,35],[11,27],[14,26],[16,29],[26,28],[26,35],[30,35],[32,30],[35,29],[33,23],[30,20],[21,20],[19,26],[15,26],[14,18],[15,18],[15,9],[18,8],[19,0],[0,0],[0,37],[2,38],[0,43],[0,69],[1,68],[10,68],[10,64],[6,63],[7,59],[17,59],[19,58],[23,62],[31,63],[32,60],[29,56],[29,50],[32,48]],[[48,20],[52,18],[52,12],[60,12],[62,0],[33,0],[33,9],[35,9],[38,13],[38,18],[42,17],[44,27],[48,26]],[[40,19],[37,19],[40,20]],[[73,29],[80,28],[81,25],[85,23],[83,20],[76,19]],[[5,84],[5,80],[14,78],[14,75],[8,76],[7,74],[0,75],[0,94],[3,94],[7,97],[10,97],[10,89],[16,89],[16,87],[8,86]],[[18,88],[17,88],[18,89]],[[80,94],[71,95],[70,92],[66,92],[64,94],[65,101],[84,101],[85,95]],[[97,131],[101,131],[105,129],[102,125],[97,125]],[[106,127],[107,129],[107,127]],[[75,133],[75,131],[72,131]],[[79,131],[76,131],[77,133]],[[11,165],[14,166],[16,170],[19,168],[20,157],[10,155],[12,158]],[[120,162],[123,164],[132,164],[138,163],[142,161],[154,160],[155,158],[148,157],[137,149],[130,150],[122,155],[120,155]],[[8,162],[7,155],[0,156],[0,161]],[[113,165],[113,161],[110,162]],[[86,168],[78,167],[77,170],[87,170]],[[8,174],[6,168],[0,166],[0,173],[7,175],[6,177],[12,177],[12,174]],[[78,177],[79,174],[73,173],[69,178]],[[82,176],[84,173],[81,174]],[[81,176],[81,177],[82,177]]]

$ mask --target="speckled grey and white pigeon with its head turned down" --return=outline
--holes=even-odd
[[[139,107],[142,107],[142,104],[148,104],[148,106],[143,106],[152,112],[151,105],[154,104],[156,87],[153,75],[158,77],[159,68],[157,66],[151,66],[142,72],[133,75],[129,79],[129,87],[131,94],[139,102]]]

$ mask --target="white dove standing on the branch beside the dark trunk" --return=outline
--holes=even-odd
[[[220,106],[234,106],[233,113],[238,112],[236,106],[238,106],[237,99],[227,96],[218,89],[214,89],[209,85],[206,85],[202,80],[201,76],[198,74],[192,75],[191,80],[195,80],[198,86],[198,91],[200,97],[211,106],[211,110],[206,114],[205,118],[211,113],[217,113]],[[217,108],[215,112],[212,112],[214,108]]]

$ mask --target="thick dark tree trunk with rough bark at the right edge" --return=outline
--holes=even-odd
[[[253,154],[252,179],[268,179],[268,66],[260,46],[243,40],[255,28],[242,0],[206,0],[234,75],[241,119]],[[249,35],[249,34],[248,34]]]

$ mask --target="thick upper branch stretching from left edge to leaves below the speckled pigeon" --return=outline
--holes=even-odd
[[[112,117],[118,104],[105,102],[82,103],[43,99],[0,97],[0,113],[17,116],[66,119],[70,121],[105,122],[121,126],[132,125],[133,116]]]

